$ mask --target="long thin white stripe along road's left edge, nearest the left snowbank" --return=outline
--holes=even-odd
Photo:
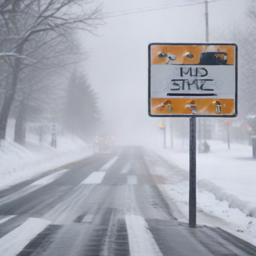
[[[25,194],[28,194],[30,192],[33,192],[34,190],[54,181],[55,179],[59,178],[61,175],[64,174],[65,171],[67,171],[68,169],[66,170],[59,170],[59,171],[56,171],[54,173],[51,173],[43,178],[40,178],[38,180],[36,180],[35,182],[23,187],[22,189],[18,190],[17,192],[15,193],[12,193],[8,196],[5,196],[3,197],[2,199],[0,199],[0,204],[2,203],[6,203],[6,202],[9,202],[9,201],[12,201],[14,199],[17,199]]]

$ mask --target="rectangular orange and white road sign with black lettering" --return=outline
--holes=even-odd
[[[150,43],[149,116],[237,115],[237,45]]]

